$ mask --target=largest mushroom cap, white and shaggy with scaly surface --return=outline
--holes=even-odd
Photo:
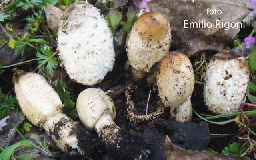
[[[64,12],[58,49],[68,76],[84,85],[101,82],[114,66],[112,32],[99,10],[88,2],[71,4]]]

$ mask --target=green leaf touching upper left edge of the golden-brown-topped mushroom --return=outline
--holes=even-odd
[[[130,32],[132,30],[132,26],[137,20],[137,14],[139,12],[139,8],[136,6],[130,6],[127,11],[127,21],[124,23],[124,31]]]

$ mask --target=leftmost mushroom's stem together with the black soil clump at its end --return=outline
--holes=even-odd
[[[91,134],[64,113],[51,117],[42,127],[63,152],[84,155],[88,153],[87,149],[92,147]]]

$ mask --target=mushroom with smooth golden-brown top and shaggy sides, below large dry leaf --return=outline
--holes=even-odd
[[[171,29],[158,12],[146,12],[134,23],[128,40],[127,56],[134,79],[141,79],[169,52]]]

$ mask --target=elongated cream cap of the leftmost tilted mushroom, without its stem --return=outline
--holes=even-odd
[[[22,112],[35,126],[60,113],[63,107],[52,86],[36,73],[20,74],[15,81],[15,93]]]

